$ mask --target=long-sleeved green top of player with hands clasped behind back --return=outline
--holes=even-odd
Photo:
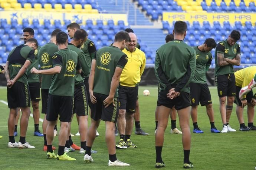
[[[181,40],[162,45],[156,52],[155,75],[160,91],[175,88],[190,93],[189,83],[196,69],[196,51]]]

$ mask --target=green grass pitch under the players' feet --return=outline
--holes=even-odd
[[[144,89],[150,90],[150,96],[143,96]],[[219,98],[215,87],[210,88],[213,100],[215,125],[217,129],[222,130],[222,123],[219,113]],[[6,88],[0,88],[0,100],[7,101]],[[141,110],[141,127],[149,136],[139,136],[132,133],[131,140],[138,148],[128,148],[116,150],[117,158],[125,163],[129,163],[129,167],[122,169],[154,169],[155,164],[155,107],[157,101],[156,86],[140,86],[139,101]],[[200,170],[250,170],[256,166],[255,162],[255,134],[256,132],[240,132],[239,122],[235,113],[235,106],[230,119],[230,125],[237,132],[229,132],[226,134],[210,133],[210,123],[206,114],[205,107],[198,107],[198,125],[203,134],[191,133],[191,152],[190,161],[194,164],[194,169]],[[41,107],[40,107],[41,109]],[[75,157],[76,161],[57,161],[55,159],[46,159],[46,152],[43,152],[43,137],[33,136],[34,121],[29,119],[29,127],[27,129],[26,140],[35,149],[18,149],[7,148],[9,142],[7,120],[9,109],[0,102],[0,169],[113,169],[108,167],[108,152],[105,143],[105,123],[102,121],[98,132],[100,136],[96,137],[93,150],[98,153],[92,154],[94,162],[85,164],[83,162],[83,154],[78,151],[69,153],[69,156]],[[40,115],[43,118],[43,115]],[[246,109],[244,110],[244,121],[247,125]],[[89,121],[90,122],[90,121]],[[42,122],[40,122],[40,130],[42,131]],[[179,123],[177,119],[177,127]],[[59,125],[58,125],[59,128]],[[193,132],[192,121],[190,121],[190,129]],[[18,136],[15,137],[16,142],[19,141],[20,128],[18,126]],[[71,133],[78,132],[76,120],[72,122]],[[80,145],[78,136],[72,137],[74,143]],[[116,142],[119,137],[116,137]],[[58,136],[55,137],[54,146],[58,147]],[[181,143],[181,135],[170,134],[170,120],[167,130],[165,131],[165,141],[163,147],[163,160],[166,164],[165,169],[183,169],[183,147]],[[119,167],[120,168],[120,167]],[[114,167],[114,169],[119,169]]]

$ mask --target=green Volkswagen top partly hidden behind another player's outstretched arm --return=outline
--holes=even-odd
[[[54,55],[55,52],[58,51],[58,46],[54,43],[47,43],[45,45],[43,45],[39,52],[38,52],[38,56],[39,56],[39,65],[41,67],[41,69],[50,69],[53,67],[52,64],[52,57]],[[42,78],[42,82],[41,82],[41,88],[42,89],[49,89],[51,82],[52,82],[52,77],[53,75],[46,75],[46,74],[42,74],[41,78]]]

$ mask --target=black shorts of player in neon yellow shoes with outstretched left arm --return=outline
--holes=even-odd
[[[49,93],[46,120],[55,121],[60,115],[60,122],[70,122],[73,110],[73,97],[56,96]]]

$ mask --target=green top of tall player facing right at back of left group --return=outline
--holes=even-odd
[[[92,58],[95,55],[96,47],[92,40],[87,39],[85,43],[82,45],[81,50],[85,53],[85,59],[89,66],[89,74],[91,71],[91,65],[92,65]],[[82,66],[83,67],[83,66]],[[89,77],[88,75],[85,75],[85,77]]]

